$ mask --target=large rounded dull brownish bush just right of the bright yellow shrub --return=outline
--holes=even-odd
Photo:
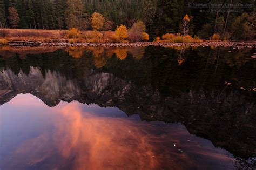
[[[130,40],[130,42],[140,42],[142,40],[146,40],[146,39],[143,39],[143,38],[147,38],[147,37],[143,37],[143,36],[146,36],[145,31],[146,31],[145,24],[142,21],[138,21],[134,23],[132,28],[129,30],[128,39]]]

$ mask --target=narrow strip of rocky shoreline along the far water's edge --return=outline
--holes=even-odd
[[[67,46],[116,46],[116,47],[125,47],[125,46],[163,46],[163,47],[183,47],[183,46],[223,46],[223,47],[237,47],[242,49],[244,47],[253,48],[256,47],[256,42],[201,42],[201,43],[154,43],[154,42],[137,42],[137,43],[75,43],[71,44],[66,42],[66,40],[53,41],[52,43],[44,43],[39,41],[12,41],[8,42],[9,46],[58,46],[58,47],[67,47]]]

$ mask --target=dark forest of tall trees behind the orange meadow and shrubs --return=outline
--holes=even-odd
[[[203,39],[211,37],[217,39],[220,37],[224,40],[255,39],[254,0],[203,2],[253,4],[250,8],[240,8],[241,11],[235,12],[232,10],[202,12],[201,9],[207,10],[207,8],[191,8],[191,3],[201,3],[201,1],[0,0],[0,28],[60,30],[77,28],[114,31],[121,24],[131,29],[134,23],[142,21],[146,28],[143,32],[149,34],[151,40],[166,33],[178,32],[183,36],[196,35]],[[96,21],[102,24],[100,29],[95,29],[92,25],[92,14],[95,12],[104,17],[104,21]],[[188,19],[184,20],[186,15]]]

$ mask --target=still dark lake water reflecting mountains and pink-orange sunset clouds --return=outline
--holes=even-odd
[[[0,169],[255,169],[254,49],[0,50]]]

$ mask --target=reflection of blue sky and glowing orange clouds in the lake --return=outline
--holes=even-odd
[[[19,94],[0,111],[0,169],[227,169],[235,161],[181,124],[147,123],[118,108],[48,107]]]

